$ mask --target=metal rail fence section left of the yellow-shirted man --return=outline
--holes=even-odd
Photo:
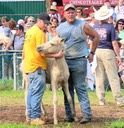
[[[11,86],[14,90],[22,89],[22,73],[19,70],[22,51],[0,50],[0,83],[2,87]]]

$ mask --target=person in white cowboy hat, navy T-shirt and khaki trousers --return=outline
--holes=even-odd
[[[112,24],[108,23],[108,19],[112,13],[113,11],[107,7],[101,7],[95,13],[95,18],[99,20],[99,23],[93,26],[100,36],[99,45],[96,50],[97,67],[95,70],[96,94],[99,99],[99,105],[105,105],[104,80],[106,74],[117,105],[124,104],[116,63],[118,61],[118,65],[121,64],[119,46],[116,41],[115,28]]]

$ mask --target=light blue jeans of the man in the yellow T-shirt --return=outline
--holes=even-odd
[[[29,87],[27,95],[27,112],[28,118],[34,120],[41,117],[41,100],[46,85],[45,70],[37,69],[28,74]]]

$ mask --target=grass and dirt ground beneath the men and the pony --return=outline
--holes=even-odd
[[[98,105],[98,99],[96,97],[95,92],[88,92],[89,99],[91,102],[91,109],[93,113],[93,121],[91,123],[81,125],[79,122],[74,123],[66,123],[64,121],[65,112],[64,112],[64,104],[63,104],[63,93],[61,90],[57,92],[58,95],[58,118],[60,117],[60,122],[58,125],[53,125],[52,123],[48,123],[47,125],[40,126],[40,128],[124,128],[124,107],[118,107],[114,98],[112,97],[111,92],[106,92],[106,101],[107,104],[105,107],[101,107]],[[122,91],[122,95],[124,95],[124,90]],[[80,112],[80,106],[77,97],[75,97],[76,102],[76,113],[79,118],[81,118],[82,114]],[[48,110],[48,113],[53,114],[53,105],[52,105],[52,91],[46,90],[43,103]],[[22,106],[23,110],[20,112],[21,116],[24,117],[24,91],[14,91],[11,89],[4,90],[3,88],[0,90],[0,114],[3,112],[3,108],[6,108],[6,112],[11,113],[11,108],[14,107],[16,113],[16,108]],[[8,108],[10,108],[8,110]],[[52,109],[52,110],[51,110]],[[7,111],[8,110],[8,111]],[[52,112],[52,113],[51,113]],[[12,114],[13,115],[13,114]],[[62,117],[61,117],[62,116]],[[3,119],[3,117],[6,117]],[[34,126],[28,126],[24,123],[24,118],[20,122],[14,122],[14,118],[10,115],[10,118],[13,120],[9,120],[7,115],[0,116],[0,128],[37,128]],[[17,118],[19,118],[17,116]]]

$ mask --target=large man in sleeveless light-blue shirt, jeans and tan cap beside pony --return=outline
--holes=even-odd
[[[69,91],[72,97],[73,105],[75,106],[74,89],[76,90],[78,100],[81,106],[81,111],[84,114],[80,123],[84,124],[90,122],[92,117],[90,102],[85,85],[85,78],[87,72],[86,56],[89,55],[89,61],[93,60],[93,54],[97,47],[99,36],[97,32],[88,23],[76,19],[76,10],[74,5],[67,4],[64,7],[64,16],[66,18],[66,21],[64,23],[61,23],[57,27],[57,32],[60,37],[65,38],[65,45],[66,45],[65,59],[67,61],[70,71]],[[90,54],[88,54],[87,52],[86,35],[92,36],[94,38],[93,47],[91,48]],[[66,111],[66,121],[67,122],[74,121],[65,94],[64,94],[64,104]]]

